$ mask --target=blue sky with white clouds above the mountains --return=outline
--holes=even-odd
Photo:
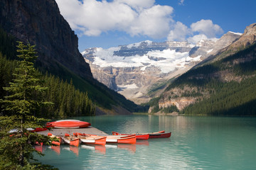
[[[143,40],[196,43],[243,33],[256,23],[255,0],[56,0],[79,50]]]

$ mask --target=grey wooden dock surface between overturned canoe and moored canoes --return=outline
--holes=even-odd
[[[45,131],[41,131],[41,132],[38,132],[42,135],[48,135],[48,132],[50,132],[51,134],[53,135],[56,135],[56,136],[64,136],[65,133],[68,133],[70,135],[73,135],[73,133],[75,132],[80,132],[80,133],[86,133],[86,134],[90,134],[90,135],[108,135],[107,133],[101,131],[101,130],[98,130],[97,128],[93,128],[92,126],[89,126],[87,128],[75,128],[75,129],[56,129],[56,128],[52,128],[50,130],[45,130]]]

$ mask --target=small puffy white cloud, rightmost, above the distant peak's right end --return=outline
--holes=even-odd
[[[213,24],[211,20],[201,20],[196,23],[191,24],[191,29],[193,32],[198,32],[199,34],[204,34],[208,38],[215,38],[216,35],[223,33],[223,29],[217,24]]]

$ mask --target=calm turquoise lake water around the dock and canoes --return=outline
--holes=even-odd
[[[104,132],[156,132],[171,137],[136,145],[43,147],[58,169],[256,169],[256,118],[114,115],[75,118]]]

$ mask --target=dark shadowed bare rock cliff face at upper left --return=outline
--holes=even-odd
[[[36,44],[39,68],[61,74],[60,66],[66,67],[92,79],[90,66],[78,51],[78,37],[54,0],[1,0],[0,26],[18,40]]]

